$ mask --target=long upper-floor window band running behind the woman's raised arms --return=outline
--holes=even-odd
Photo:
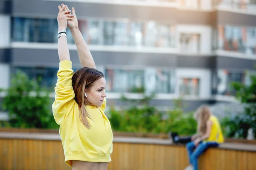
[[[136,22],[133,20],[104,20],[88,18],[79,20],[79,29],[87,44],[135,47],[175,47],[175,26],[168,23]],[[13,18],[14,42],[57,43],[56,20]],[[67,29],[67,41],[74,44]]]

